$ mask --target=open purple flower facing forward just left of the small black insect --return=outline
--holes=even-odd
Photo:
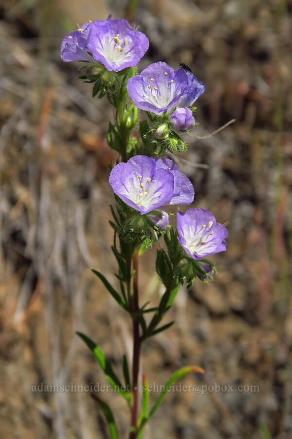
[[[171,113],[187,93],[188,77],[183,69],[173,70],[159,61],[150,64],[140,75],[132,76],[127,89],[136,107],[156,114]]]

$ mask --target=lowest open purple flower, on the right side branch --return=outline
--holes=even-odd
[[[193,258],[201,260],[208,255],[226,250],[226,228],[205,209],[188,209],[177,213],[178,240]]]

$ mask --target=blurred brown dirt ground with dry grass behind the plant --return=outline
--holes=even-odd
[[[1,437],[108,438],[89,392],[44,386],[107,383],[77,330],[119,373],[123,353],[131,356],[128,315],[90,270],[115,283],[112,111],[77,79],[78,63],[59,55],[76,21],[110,12],[149,38],[140,71],[159,60],[185,62],[206,84],[200,124],[177,160],[194,184],[193,206],[229,221],[227,252],[210,258],[215,281],[182,288],[170,312],[175,325],[144,346],[151,384],[187,364],[205,370],[203,379],[182,379],[200,387],[167,396],[145,439],[292,438],[292,2],[285,0],[0,3]],[[217,135],[196,137],[232,119]],[[142,258],[140,289],[154,306],[162,289],[153,254]],[[126,403],[102,397],[126,438]]]

